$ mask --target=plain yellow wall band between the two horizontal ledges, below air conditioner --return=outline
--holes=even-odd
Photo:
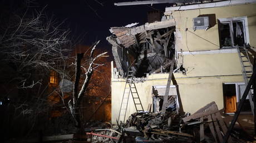
[[[238,53],[184,55],[187,76],[242,74]]]

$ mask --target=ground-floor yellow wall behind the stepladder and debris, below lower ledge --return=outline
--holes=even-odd
[[[243,81],[242,75],[232,76],[207,76],[207,77],[183,77],[181,74],[174,74],[178,83],[181,104],[185,112],[194,113],[206,104],[215,101],[219,110],[223,109],[223,83],[237,83]],[[144,110],[148,104],[152,104],[152,86],[166,85],[168,74],[153,74],[147,76],[144,83],[137,83],[137,92],[141,98]],[[171,83],[173,84],[173,83]],[[124,79],[112,79],[111,115],[112,123],[115,124],[119,115],[122,94],[125,88]],[[135,113],[135,106],[131,99],[127,109],[127,116]]]

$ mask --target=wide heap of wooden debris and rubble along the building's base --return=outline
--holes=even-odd
[[[189,115],[140,112],[125,124],[87,132],[92,142],[223,142],[227,125],[215,102]],[[228,142],[245,142],[233,131]]]

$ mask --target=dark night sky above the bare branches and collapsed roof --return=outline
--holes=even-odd
[[[126,0],[134,1],[134,0]],[[168,4],[114,6],[118,0],[38,0],[40,8],[45,6],[47,15],[52,14],[64,28],[70,28],[72,35],[82,35],[82,44],[91,45],[101,40],[100,47],[109,49],[106,37],[111,35],[110,27],[125,26],[130,23],[147,22],[147,12],[155,9],[164,11]],[[99,3],[100,2],[100,3]]]

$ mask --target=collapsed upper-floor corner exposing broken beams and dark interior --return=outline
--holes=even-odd
[[[174,56],[175,21],[146,23],[138,27],[112,27],[107,37],[112,44],[116,68],[121,76],[132,70],[136,77],[167,72]]]

